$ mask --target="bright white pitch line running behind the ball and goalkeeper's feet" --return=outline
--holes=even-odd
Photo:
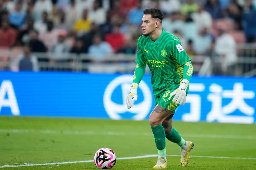
[[[151,158],[151,157],[157,157],[158,155],[143,155],[143,156],[134,156],[134,157],[123,157],[123,158],[117,158],[117,160],[124,160],[124,159],[139,159],[139,158]],[[178,156],[180,155],[167,155],[167,156]],[[223,156],[190,156],[190,157],[198,157],[198,158],[220,158],[220,159],[254,159],[256,158],[245,158],[245,157],[223,157]],[[87,160],[87,161],[67,161],[67,162],[55,162],[55,163],[43,163],[43,164],[32,164],[32,163],[24,163],[24,165],[4,165],[0,168],[4,167],[29,167],[29,166],[39,166],[39,165],[61,165],[61,164],[70,164],[70,163],[88,163],[93,162],[93,160]]]

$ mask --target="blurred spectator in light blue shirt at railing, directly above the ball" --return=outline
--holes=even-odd
[[[104,62],[104,55],[111,54],[111,45],[102,41],[101,35],[96,34],[93,37],[93,44],[88,49],[93,62]]]

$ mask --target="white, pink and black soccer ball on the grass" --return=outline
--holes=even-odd
[[[101,148],[94,155],[94,163],[100,169],[110,169],[116,163],[116,154],[112,149]]]

